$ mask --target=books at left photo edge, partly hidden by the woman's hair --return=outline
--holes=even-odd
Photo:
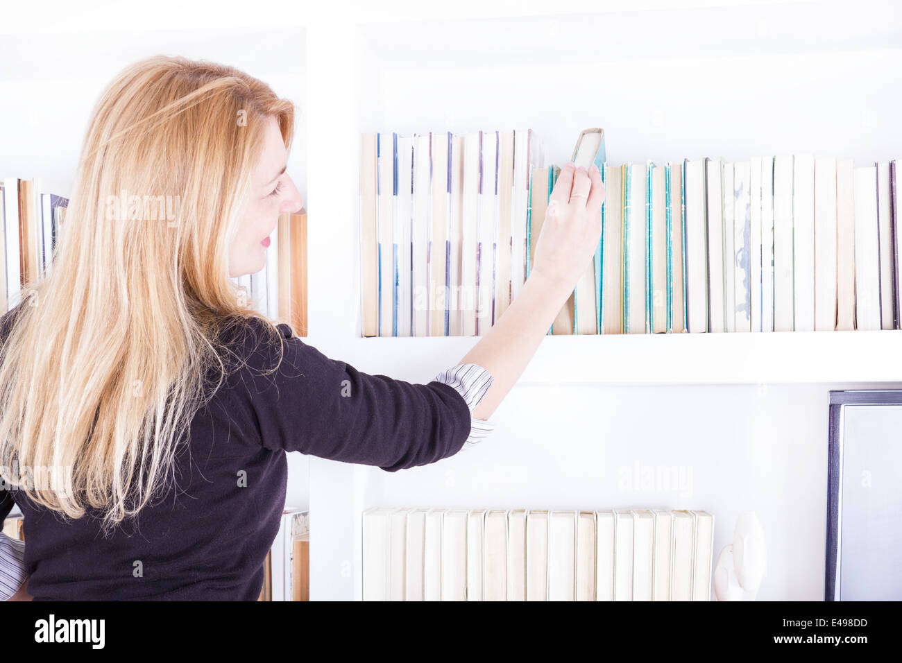
[[[50,269],[69,199],[45,190],[41,178],[0,181],[0,310],[18,301],[25,282]]]

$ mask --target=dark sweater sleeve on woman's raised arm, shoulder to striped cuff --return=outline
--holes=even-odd
[[[259,323],[258,323],[259,324]],[[387,472],[454,456],[470,436],[471,411],[455,387],[362,373],[328,358],[279,325],[278,349],[252,332],[246,366],[226,388],[254,443]]]

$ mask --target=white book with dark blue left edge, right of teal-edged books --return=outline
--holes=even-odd
[[[704,161],[685,161],[686,307],[689,332],[708,331],[708,230]]]

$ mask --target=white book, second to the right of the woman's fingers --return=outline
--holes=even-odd
[[[645,166],[633,163],[628,166],[630,174],[629,199],[626,215],[626,288],[629,292],[627,325],[629,334],[648,332],[646,319],[646,172]]]

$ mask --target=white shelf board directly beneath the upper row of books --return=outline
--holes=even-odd
[[[342,345],[364,373],[428,381],[478,336],[373,337]],[[520,384],[902,382],[902,331],[546,336]]]

